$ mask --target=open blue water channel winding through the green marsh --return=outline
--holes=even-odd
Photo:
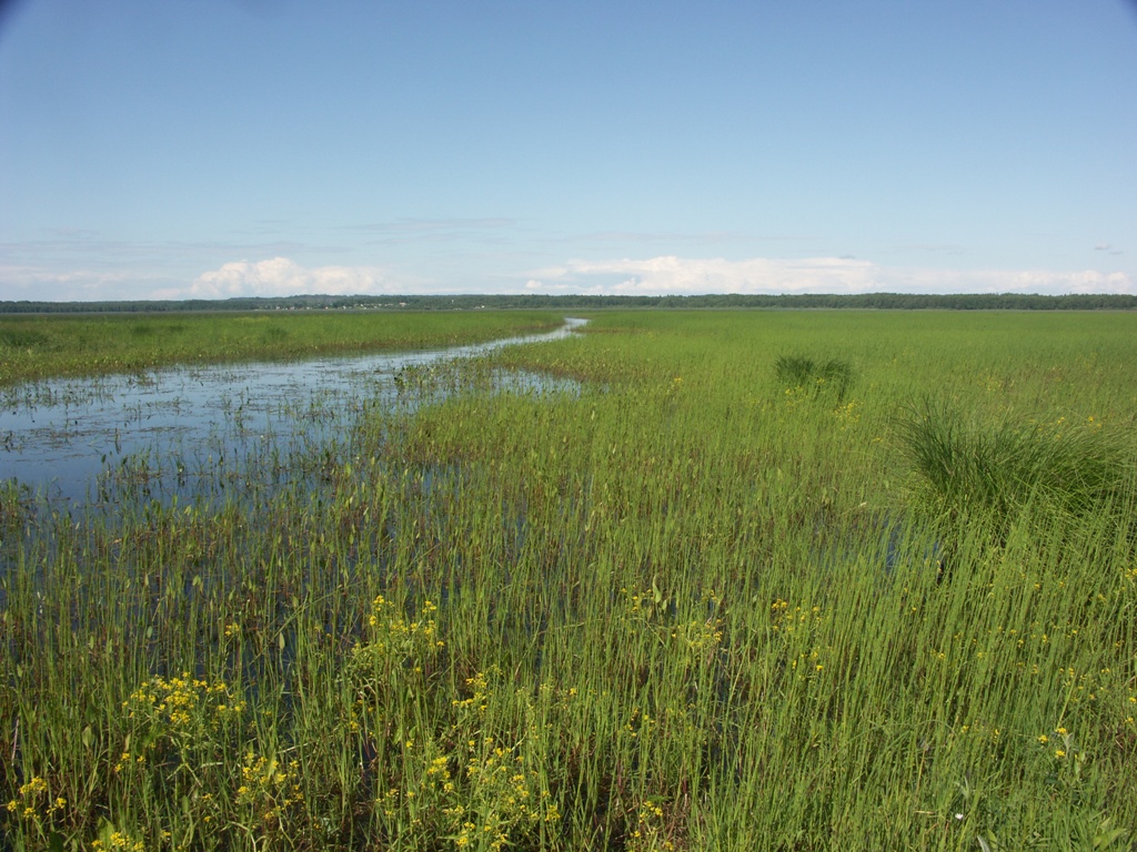
[[[547,334],[443,350],[26,383],[2,392],[0,482],[86,501],[108,471],[141,479],[159,466],[184,491],[193,471],[216,471],[269,446],[330,440],[346,411],[414,404],[422,399],[415,386],[422,389],[437,366],[557,340],[583,323],[568,319]],[[540,387],[548,381],[508,374],[496,375],[495,384]]]

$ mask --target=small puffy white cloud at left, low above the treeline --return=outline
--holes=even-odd
[[[302,267],[289,258],[236,260],[202,273],[180,298],[231,299],[319,293],[355,295],[395,292],[390,276],[372,266]],[[175,296],[166,296],[175,298]]]

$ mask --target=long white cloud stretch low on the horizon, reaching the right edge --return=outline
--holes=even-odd
[[[1124,273],[1093,269],[937,269],[887,267],[853,258],[724,260],[664,256],[575,260],[532,270],[530,292],[614,295],[698,293],[1137,293]]]

